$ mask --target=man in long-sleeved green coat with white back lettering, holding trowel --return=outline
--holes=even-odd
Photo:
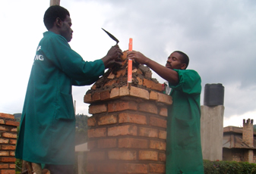
[[[69,12],[58,5],[44,15],[43,33],[34,57],[17,140],[16,157],[46,164],[53,174],[72,174],[75,117],[72,85],[90,85],[109,62],[122,54],[118,45],[102,59],[84,61],[68,45],[72,39]]]

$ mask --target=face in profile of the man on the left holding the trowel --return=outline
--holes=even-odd
[[[65,39],[67,39],[68,42],[71,41],[72,39],[72,33],[73,30],[71,29],[71,18],[67,15],[65,20],[62,21],[62,26],[60,28],[60,35],[65,37]]]

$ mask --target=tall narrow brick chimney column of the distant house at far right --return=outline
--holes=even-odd
[[[242,141],[245,142],[250,148],[254,148],[254,134],[253,134],[253,120],[243,120],[243,127],[242,127]],[[249,163],[253,163],[253,150],[249,149],[248,153],[245,153],[245,161]]]

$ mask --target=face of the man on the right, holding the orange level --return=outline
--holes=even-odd
[[[169,69],[185,70],[186,64],[182,63],[182,55],[178,52],[173,52],[169,55],[166,61],[166,67]]]

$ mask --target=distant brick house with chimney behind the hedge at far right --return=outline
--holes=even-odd
[[[256,132],[253,120],[243,120],[243,127],[223,129],[223,160],[256,163]]]

